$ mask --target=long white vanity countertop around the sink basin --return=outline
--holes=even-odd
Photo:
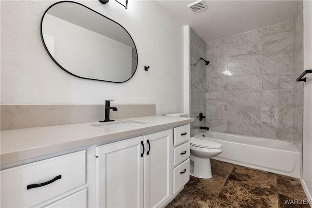
[[[128,120],[147,123],[103,129],[90,126],[100,124],[98,121],[94,121],[0,131],[1,165],[98,143],[111,143],[120,138],[129,138],[174,126],[186,125],[194,121],[194,118],[155,115],[116,119],[116,121],[108,123],[113,124]]]

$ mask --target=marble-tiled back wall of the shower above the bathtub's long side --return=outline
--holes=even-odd
[[[294,140],[293,52],[292,21],[207,42],[210,130]]]

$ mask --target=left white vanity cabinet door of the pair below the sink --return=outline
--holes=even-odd
[[[97,207],[143,207],[143,140],[140,136],[97,147]]]

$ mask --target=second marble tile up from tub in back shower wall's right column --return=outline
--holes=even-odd
[[[291,106],[261,106],[261,121],[267,123],[291,124],[293,119],[293,107]]]

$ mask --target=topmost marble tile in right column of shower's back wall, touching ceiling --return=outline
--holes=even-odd
[[[292,21],[275,24],[262,29],[263,42],[270,42],[285,38],[292,38]]]

